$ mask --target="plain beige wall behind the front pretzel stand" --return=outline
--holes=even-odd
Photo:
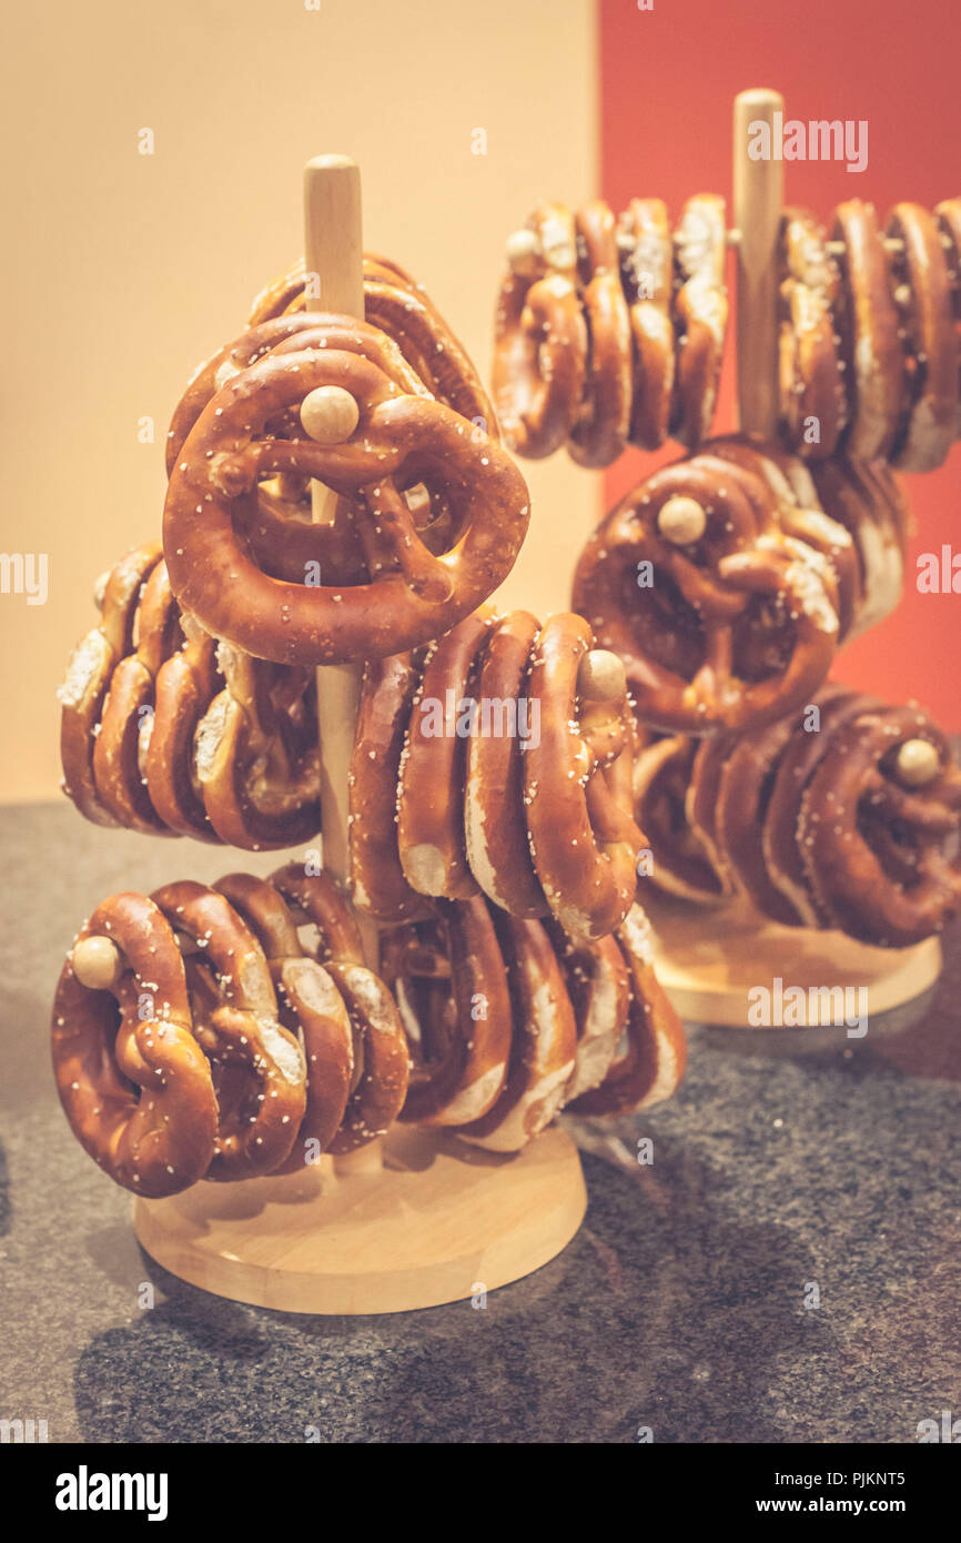
[[[48,554],[49,597],[0,596],[0,798],[56,790],[54,690],[94,577],[159,532],[170,410],[299,250],[302,162],[359,160],[367,245],[421,278],[489,373],[504,236],[538,198],[597,184],[594,31],[591,0],[8,11],[2,546]],[[566,457],[524,472],[534,529],[506,594],[557,609],[599,483]]]

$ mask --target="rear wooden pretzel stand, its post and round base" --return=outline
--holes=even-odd
[[[777,278],[774,250],[784,205],[784,162],[751,160],[748,125],[773,123],[784,113],[777,91],[742,91],[734,99],[734,230],[737,250],[737,406],[740,427],[773,435],[777,401]],[[748,1029],[751,1042],[770,1038],[819,1046],[845,1040],[845,1029],[810,1021],[799,1029],[754,1029],[748,1021],[753,988],[781,978],[784,989],[850,986],[867,989],[870,1031],[901,1029],[927,1008],[941,972],[936,938],[909,949],[879,949],[841,932],[784,927],[747,901],[710,913],[642,886],[657,934],[657,972],[688,1023]],[[847,1043],[847,1040],[845,1040]]]

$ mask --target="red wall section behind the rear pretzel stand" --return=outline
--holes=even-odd
[[[657,196],[679,211],[697,191],[731,194],[731,100],[773,86],[785,117],[867,119],[868,165],[788,162],[785,198],[822,218],[845,198],[884,216],[961,193],[958,0],[600,0],[602,193],[623,207]],[[733,330],[719,432],[734,426]],[[608,506],[668,457],[631,452],[606,477]],[[896,616],[844,650],[836,674],[918,697],[961,730],[961,596],[918,594],[918,552],[961,552],[961,441],[938,472],[905,478],[918,523]]]

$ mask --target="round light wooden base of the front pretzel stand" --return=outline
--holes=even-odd
[[[395,1126],[384,1167],[196,1183],[136,1200],[143,1248],[191,1285],[287,1313],[403,1313],[538,1270],[580,1227],[577,1148],[552,1128],[514,1157]]]

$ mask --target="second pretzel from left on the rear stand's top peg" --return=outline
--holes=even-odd
[[[595,199],[577,211],[574,228],[589,346],[585,400],[568,451],[578,466],[609,466],[631,432],[631,316],[620,282],[614,214]]]

